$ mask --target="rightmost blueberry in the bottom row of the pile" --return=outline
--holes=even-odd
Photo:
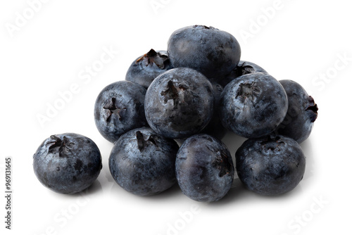
[[[275,196],[291,191],[301,182],[306,157],[294,139],[265,136],[244,141],[236,152],[236,169],[246,188]]]

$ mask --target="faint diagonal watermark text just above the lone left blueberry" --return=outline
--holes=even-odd
[[[46,110],[43,113],[37,113],[36,118],[39,125],[44,128],[47,122],[50,122],[58,115],[59,111],[63,110],[65,106],[73,101],[75,95],[79,94],[84,86],[87,86],[92,79],[99,75],[99,72],[103,68],[113,61],[118,54],[118,51],[113,49],[113,46],[109,48],[103,46],[101,56],[93,61],[91,65],[86,65],[80,72],[78,72],[78,81],[73,82],[68,86],[68,89],[58,91],[58,97],[51,103],[46,102]]]

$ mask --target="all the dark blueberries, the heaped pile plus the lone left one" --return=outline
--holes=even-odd
[[[278,195],[297,186],[306,167],[299,144],[318,107],[300,84],[277,81],[240,56],[232,34],[184,27],[172,33],[168,51],[139,56],[125,81],[101,91],[94,118],[114,143],[108,165],[115,182],[141,196],[177,182],[189,198],[218,201],[234,179],[232,156],[220,141],[229,130],[248,138],[235,155],[247,189]],[[39,146],[33,166],[44,186],[77,193],[98,177],[101,154],[85,136],[56,134]]]

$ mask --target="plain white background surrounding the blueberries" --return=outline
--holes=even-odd
[[[13,230],[4,228],[1,196],[1,234],[351,234],[348,1],[43,0],[37,11],[30,10],[32,1],[0,3],[0,195],[4,159],[13,159]],[[232,33],[242,60],[277,80],[301,83],[318,103],[313,133],[302,144],[306,174],[294,191],[258,196],[237,179],[222,201],[197,203],[177,186],[139,197],[113,182],[112,144],[94,125],[96,96],[124,80],[137,56],[165,50],[174,30],[195,24]],[[107,49],[118,52],[99,68]],[[99,70],[94,76],[86,71],[92,66]],[[60,93],[72,87],[75,94],[60,103]],[[55,104],[61,110],[51,110],[41,125],[38,116],[48,117]],[[102,153],[103,170],[84,194],[54,193],[32,170],[39,144],[64,132],[88,136]],[[234,155],[244,139],[230,135],[224,141]]]

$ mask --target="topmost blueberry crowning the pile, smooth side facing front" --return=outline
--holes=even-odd
[[[194,25],[171,34],[168,55],[174,68],[193,68],[220,81],[239,63],[241,48],[228,32]]]

